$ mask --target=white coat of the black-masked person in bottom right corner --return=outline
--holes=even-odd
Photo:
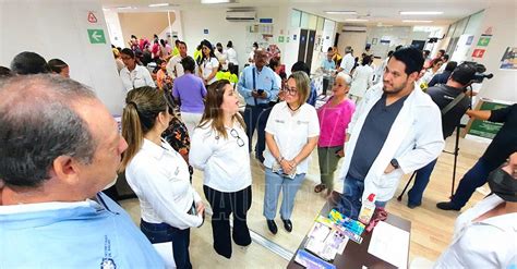
[[[434,268],[516,268],[517,213],[476,221],[501,203],[502,198],[491,195],[461,213],[456,220],[453,242]]]

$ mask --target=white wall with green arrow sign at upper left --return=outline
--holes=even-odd
[[[88,23],[88,11],[98,23]],[[89,44],[87,28],[103,29],[107,44]],[[125,93],[99,1],[0,1],[0,65],[9,66],[22,51],[60,58],[70,65],[70,76],[91,86],[111,113],[122,111]]]

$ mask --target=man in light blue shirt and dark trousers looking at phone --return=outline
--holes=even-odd
[[[257,129],[257,140],[255,146],[255,158],[264,161],[263,152],[266,148],[265,123],[268,113],[264,113],[269,108],[269,102],[275,101],[278,95],[279,85],[275,80],[275,73],[267,68],[267,52],[258,48],[254,56],[255,65],[247,66],[239,78],[238,90],[244,97],[245,110],[244,122],[247,134],[250,138],[249,150],[251,152],[251,140],[253,132]],[[260,124],[262,123],[262,124]],[[261,127],[261,125],[264,125]]]

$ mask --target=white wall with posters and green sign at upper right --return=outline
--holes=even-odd
[[[469,56],[472,54],[476,44],[480,35],[488,28],[492,27],[493,36],[490,40],[486,52],[482,59],[471,58],[469,60],[477,61],[486,66],[488,73],[493,73],[492,80],[485,80],[482,85],[480,96],[517,102],[517,71],[500,70],[501,58],[507,47],[517,47],[517,3],[508,5],[496,5],[484,11],[483,22],[474,36],[473,45]]]

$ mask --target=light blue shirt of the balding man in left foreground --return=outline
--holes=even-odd
[[[106,195],[63,208],[0,206],[0,268],[165,268],[128,213]]]

